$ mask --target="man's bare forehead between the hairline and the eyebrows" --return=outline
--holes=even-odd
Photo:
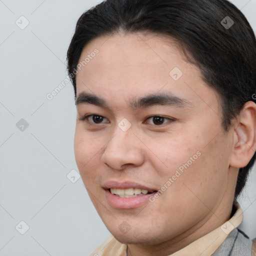
[[[95,49],[97,54],[91,54]],[[188,63],[177,42],[166,37],[143,33],[101,36],[83,48],[79,62],[86,57],[89,61],[77,69],[77,95],[86,91],[118,101],[169,91],[190,102],[214,99],[215,92],[203,82],[199,68]]]

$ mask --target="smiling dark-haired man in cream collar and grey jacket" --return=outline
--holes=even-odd
[[[106,0],[68,52],[76,163],[111,232],[91,255],[251,255],[256,41],[226,0]],[[255,252],[254,252],[255,254]]]

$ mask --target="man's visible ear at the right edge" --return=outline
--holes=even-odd
[[[248,164],[256,150],[256,104],[247,101],[236,121],[229,164],[241,168]]]

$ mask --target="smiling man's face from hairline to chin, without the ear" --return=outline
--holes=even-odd
[[[122,243],[156,244],[217,221],[211,212],[233,189],[231,134],[200,70],[159,35],[98,37],[79,62],[88,54],[76,75],[74,151],[108,230]]]

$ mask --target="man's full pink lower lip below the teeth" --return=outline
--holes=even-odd
[[[142,205],[145,202],[149,201],[149,197],[153,196],[156,193],[137,195],[134,197],[119,197],[117,195],[112,194],[108,189],[105,189],[106,198],[109,204],[117,209],[130,209],[136,208]]]

